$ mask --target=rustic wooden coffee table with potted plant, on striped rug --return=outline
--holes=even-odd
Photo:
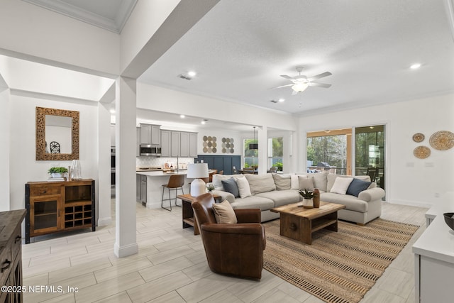
[[[312,244],[312,233],[326,228],[338,231],[338,210],[345,209],[345,205],[320,202],[318,209],[304,209],[298,204],[288,204],[271,209],[280,213],[280,234],[287,238]]]

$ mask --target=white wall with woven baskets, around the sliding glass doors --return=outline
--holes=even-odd
[[[454,190],[454,148],[435,150],[429,145],[436,131],[454,130],[454,94],[426,99],[384,104],[361,109],[338,111],[302,117],[299,121],[299,169],[305,170],[306,132],[351,126],[386,124],[387,202],[409,205],[443,203],[445,192]],[[422,143],[412,140],[414,133],[423,133]],[[418,159],[416,146],[431,148],[431,156]]]

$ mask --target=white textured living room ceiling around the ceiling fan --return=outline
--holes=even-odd
[[[450,1],[450,0],[447,0]],[[454,92],[446,0],[220,1],[139,81],[308,115]],[[410,70],[421,62],[419,70]],[[329,71],[292,96],[279,75]],[[197,72],[188,81],[177,75]],[[282,103],[270,100],[284,98]]]

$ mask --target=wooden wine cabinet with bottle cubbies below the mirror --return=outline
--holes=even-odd
[[[95,225],[94,180],[28,182],[26,243],[30,237],[92,228]]]

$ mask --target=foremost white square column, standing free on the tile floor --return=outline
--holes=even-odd
[[[135,85],[135,79],[127,77],[116,79],[114,253],[118,258],[138,253],[135,236]]]

